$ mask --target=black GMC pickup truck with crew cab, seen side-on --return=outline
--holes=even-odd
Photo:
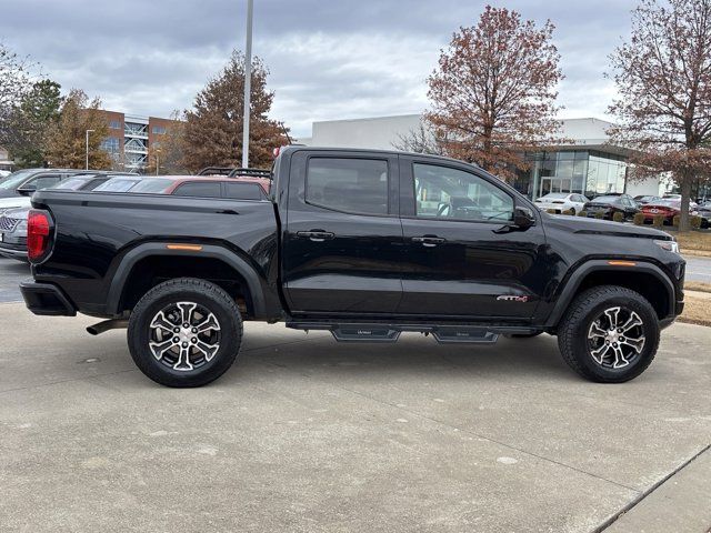
[[[542,213],[460,161],[288,147],[270,195],[40,191],[27,305],[108,319],[94,334],[128,328],[138,366],[170,386],[227,371],[244,320],[338,341],[545,332],[582,376],[623,382],[683,308],[684,261],[667,233]]]

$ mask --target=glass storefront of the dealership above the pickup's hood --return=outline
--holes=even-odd
[[[575,192],[593,198],[624,192],[628,164],[623,157],[592,150],[527,154],[530,170],[519,172],[514,187],[535,200],[549,192]]]

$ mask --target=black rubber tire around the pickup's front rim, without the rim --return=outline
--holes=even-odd
[[[591,355],[588,332],[605,309],[620,306],[633,311],[642,321],[644,345],[641,353],[624,368],[599,364]],[[640,293],[618,285],[590,289],[573,300],[558,328],[558,346],[568,365],[581,376],[598,383],[623,383],[633,380],[654,360],[659,348],[660,326],[654,308]]]

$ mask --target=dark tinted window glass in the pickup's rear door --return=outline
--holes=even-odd
[[[311,158],[306,201],[358,214],[388,214],[388,161]]]

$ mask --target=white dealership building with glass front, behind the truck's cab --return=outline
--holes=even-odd
[[[420,114],[314,122],[312,137],[300,142],[313,147],[392,150],[403,137],[420,129]],[[629,151],[609,144],[613,124],[599,119],[562,120],[560,137],[569,144],[527,153],[530,169],[519,172],[513,185],[531,199],[549,192],[575,192],[592,198],[609,192],[659,194],[660,179],[629,180]]]

